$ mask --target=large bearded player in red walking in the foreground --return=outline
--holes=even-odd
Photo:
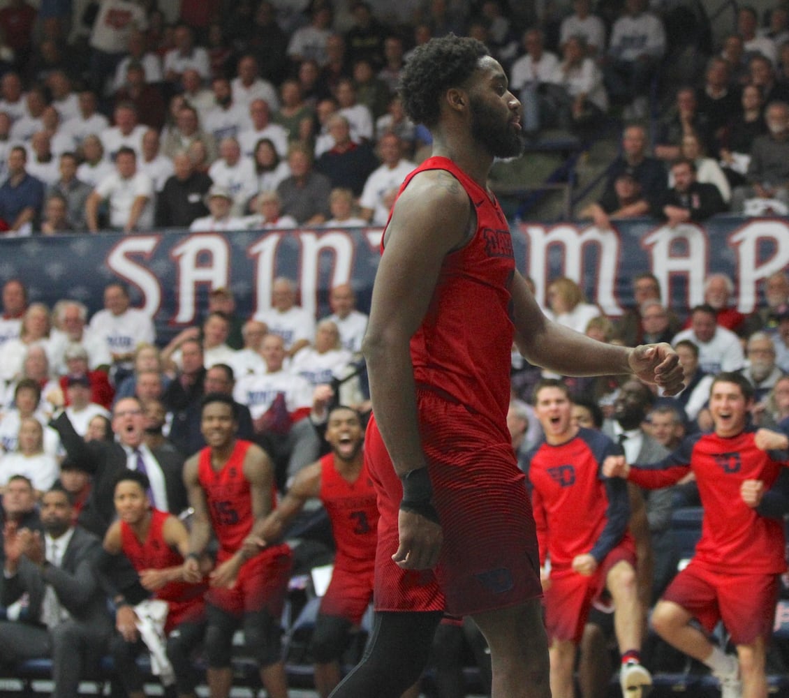
[[[487,638],[494,698],[548,696],[537,537],[507,431],[511,343],[560,374],[635,373],[669,394],[681,369],[668,345],[595,342],[540,311],[488,190],[494,158],[520,155],[523,138],[521,105],[484,44],[449,35],[418,47],[401,94],[433,156],[401,187],[372,294],[378,613],[372,649],[334,695],[398,696],[446,608]]]

